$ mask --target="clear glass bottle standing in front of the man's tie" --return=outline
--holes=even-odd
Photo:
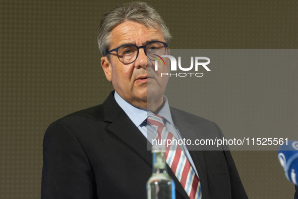
[[[174,199],[175,183],[167,173],[165,146],[152,146],[152,175],[147,182],[147,199]]]

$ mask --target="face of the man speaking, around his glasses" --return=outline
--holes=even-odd
[[[146,45],[150,41],[163,41],[159,29],[146,28],[140,23],[126,21],[117,25],[110,33],[111,46],[108,50],[123,44]],[[116,52],[111,52],[110,59],[101,58],[101,65],[106,78],[112,82],[115,91],[128,103],[146,109],[148,99],[159,106],[163,102],[163,93],[168,77],[160,77],[162,72],[168,73],[169,67],[159,67],[154,70],[154,61],[147,62],[144,48],[139,49],[135,62],[124,64],[118,60]],[[148,92],[147,92],[148,86]]]

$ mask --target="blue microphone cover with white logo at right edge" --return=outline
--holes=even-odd
[[[280,145],[278,160],[283,167],[286,178],[298,186],[298,141],[289,140]]]

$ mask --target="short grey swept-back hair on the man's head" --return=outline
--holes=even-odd
[[[160,28],[167,43],[170,42],[171,34],[157,11],[144,2],[129,2],[117,6],[103,15],[101,19],[97,42],[102,56],[108,52],[110,47],[110,32],[112,29],[125,21],[139,22],[146,28]]]

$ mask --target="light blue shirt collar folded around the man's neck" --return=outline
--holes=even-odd
[[[135,107],[128,102],[126,102],[116,91],[114,94],[115,101],[118,103],[118,105],[124,110],[124,112],[128,115],[128,117],[133,121],[133,123],[139,127],[144,120],[147,119],[150,115],[154,115],[151,111],[147,111],[145,109],[141,109],[139,107]],[[168,105],[168,100],[166,96],[164,96],[165,103],[161,110],[159,111],[158,115],[163,117],[165,120],[167,120],[170,124],[173,124],[170,108]]]

